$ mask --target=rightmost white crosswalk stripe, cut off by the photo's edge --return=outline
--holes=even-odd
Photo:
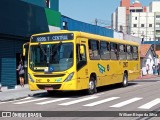
[[[153,101],[151,101],[149,103],[146,103],[146,104],[144,104],[144,105],[142,105],[142,106],[140,106],[138,108],[140,108],[140,109],[150,109],[151,107],[153,107],[153,106],[155,106],[155,105],[157,105],[159,103],[160,103],[160,98],[157,98],[157,99],[155,99],[155,100],[153,100]]]

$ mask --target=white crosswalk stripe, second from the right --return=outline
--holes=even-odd
[[[135,97],[135,98],[132,98],[132,99],[129,99],[129,100],[120,102],[120,103],[118,103],[118,104],[112,105],[112,106],[110,106],[110,107],[116,107],[116,108],[123,107],[123,106],[125,106],[125,105],[128,105],[128,104],[130,104],[130,103],[136,102],[136,101],[141,100],[141,99],[142,99],[142,98],[137,98],[137,97]]]

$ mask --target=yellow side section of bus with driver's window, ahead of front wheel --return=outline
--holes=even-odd
[[[88,67],[86,40],[79,38],[76,44],[76,64],[77,64],[77,89],[86,89],[88,87]]]

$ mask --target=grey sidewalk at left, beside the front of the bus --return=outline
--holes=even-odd
[[[28,84],[26,84],[24,87],[18,86],[16,89],[5,89],[2,87],[0,92],[0,102],[22,99],[28,96],[35,96],[44,92],[46,91],[30,91]]]

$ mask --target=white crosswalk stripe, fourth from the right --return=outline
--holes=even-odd
[[[76,104],[76,103],[79,103],[79,102],[83,102],[83,101],[87,101],[87,100],[91,100],[91,99],[95,99],[95,98],[98,98],[98,96],[91,96],[91,97],[87,97],[87,98],[83,98],[83,99],[79,99],[79,100],[74,100],[74,101],[62,103],[62,104],[59,104],[59,105],[72,105],[72,104]]]

